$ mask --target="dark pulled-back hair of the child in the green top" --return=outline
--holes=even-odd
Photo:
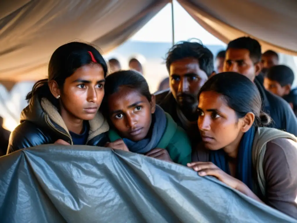
[[[136,70],[120,70],[111,73],[105,78],[104,98],[102,112],[106,115],[108,108],[108,97],[119,91],[119,87],[129,87],[137,90],[141,95],[151,101],[151,92],[146,79]]]

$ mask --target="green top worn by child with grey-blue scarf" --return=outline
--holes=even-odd
[[[177,126],[168,113],[165,112],[165,115],[166,129],[156,148],[167,150],[173,162],[186,166],[187,163],[191,162],[192,153],[189,137],[181,127]],[[108,131],[108,137],[110,142],[121,139],[121,136],[111,128]]]

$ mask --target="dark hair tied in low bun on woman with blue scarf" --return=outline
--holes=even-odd
[[[214,91],[223,95],[227,105],[236,112],[238,118],[244,117],[248,112],[255,114],[255,127],[263,127],[271,122],[268,114],[262,109],[262,100],[256,85],[236,72],[218,73],[208,79],[201,87],[199,96],[202,92]]]

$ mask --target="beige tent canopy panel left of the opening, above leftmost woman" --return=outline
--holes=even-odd
[[[0,79],[38,80],[53,51],[73,41],[107,53],[159,12],[169,0],[10,0],[0,3]]]

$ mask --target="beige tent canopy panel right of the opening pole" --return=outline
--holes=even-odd
[[[225,43],[256,38],[263,52],[297,55],[297,1],[177,0],[208,32]]]

